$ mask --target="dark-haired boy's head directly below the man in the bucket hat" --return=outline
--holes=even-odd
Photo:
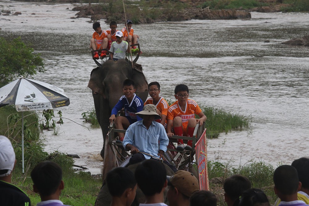
[[[145,204],[139,206],[167,206],[163,203],[163,194],[167,186],[166,169],[162,162],[145,160],[135,170],[138,187],[146,197]]]

